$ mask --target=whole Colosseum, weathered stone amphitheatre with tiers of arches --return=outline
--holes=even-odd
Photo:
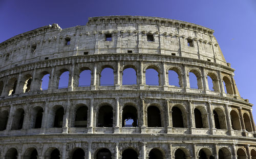
[[[252,104],[213,33],[104,16],[2,42],[0,158],[255,159]]]

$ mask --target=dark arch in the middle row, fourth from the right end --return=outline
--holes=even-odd
[[[209,128],[207,110],[204,106],[196,106],[194,108],[194,119],[196,128]]]

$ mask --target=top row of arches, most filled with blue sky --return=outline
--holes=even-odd
[[[109,86],[114,84],[120,84],[119,81],[118,83],[115,83],[115,80],[122,81],[122,85],[138,85],[143,84],[143,81],[140,80],[145,78],[146,85],[173,85],[176,87],[189,86],[190,88],[204,89],[204,75],[198,69],[189,70],[188,74],[186,75],[187,79],[185,79],[185,74],[182,73],[179,67],[169,67],[166,73],[163,73],[160,70],[159,66],[148,65],[145,68],[145,71],[143,71],[143,74],[140,74],[140,76],[143,76],[141,78],[137,78],[139,72],[133,65],[127,65],[123,67],[120,79],[119,77],[117,77],[119,75],[117,75],[114,67],[112,67],[111,65],[102,66],[102,69],[99,70],[99,73],[96,73],[96,71],[97,69],[94,70],[94,74],[97,77],[93,77],[95,75],[92,73],[90,67],[81,67],[81,69],[75,71],[74,75],[70,74],[70,71],[68,69],[60,69],[53,77],[50,76],[51,73],[47,70],[42,71],[39,74],[35,74],[36,77],[32,77],[32,73],[26,74],[19,81],[17,77],[12,77],[7,81],[6,85],[4,85],[3,80],[0,81],[0,95],[26,93],[30,92],[31,89],[47,90],[51,78],[54,78],[52,79],[52,86],[59,89],[67,88],[68,86],[70,86],[72,82],[71,78],[74,79],[72,85],[78,87],[90,85]],[[163,74],[167,74],[167,76],[165,75],[164,77],[162,77]],[[92,77],[97,78],[98,83]],[[206,89],[215,92],[221,92],[221,89],[224,89],[222,90],[223,92],[231,95],[234,94],[234,88],[231,82],[232,79],[230,77],[224,75],[222,78],[223,83],[219,82],[220,78],[214,72],[208,72],[205,77],[207,80],[207,83],[205,85]]]

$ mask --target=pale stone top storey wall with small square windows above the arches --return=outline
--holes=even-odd
[[[14,36],[0,44],[0,63],[5,70],[59,57],[128,52],[182,56],[227,66],[213,33],[166,18],[92,17],[86,26],[61,29],[53,24]]]

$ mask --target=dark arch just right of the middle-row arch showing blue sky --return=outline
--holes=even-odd
[[[147,127],[164,127],[163,110],[159,104],[153,103],[145,107]]]

